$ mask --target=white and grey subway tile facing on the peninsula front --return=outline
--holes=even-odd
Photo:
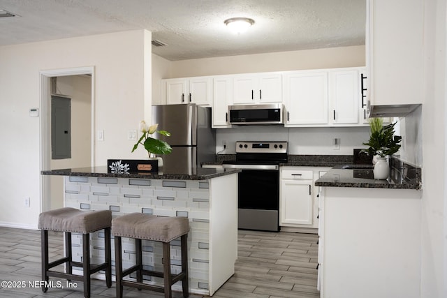
[[[102,179],[100,179],[102,178]],[[107,177],[104,177],[107,178]],[[209,208],[210,191],[206,181],[161,181],[159,179],[104,179],[89,177],[80,181],[66,179],[65,206],[90,209],[112,210],[113,218],[133,212],[156,216],[184,216],[189,218],[189,268],[191,287],[206,290],[209,272]],[[164,186],[163,186],[164,185]],[[73,193],[70,193],[73,192]],[[75,193],[78,192],[78,193]],[[158,197],[158,198],[157,198]],[[102,233],[102,234],[101,234]],[[112,237],[113,238],[113,237]],[[112,256],[115,246],[112,240]],[[142,241],[143,262],[148,267],[163,271],[162,246],[154,241]],[[82,236],[73,234],[73,255],[80,260]],[[102,260],[103,232],[94,233],[91,241],[92,261]],[[135,262],[135,240],[123,238],[124,267]],[[170,246],[173,272],[179,271],[181,250],[179,239]],[[79,261],[78,260],[78,261]],[[112,261],[115,271],[115,261]],[[163,284],[162,278],[152,278]],[[178,285],[175,285],[175,287]]]

